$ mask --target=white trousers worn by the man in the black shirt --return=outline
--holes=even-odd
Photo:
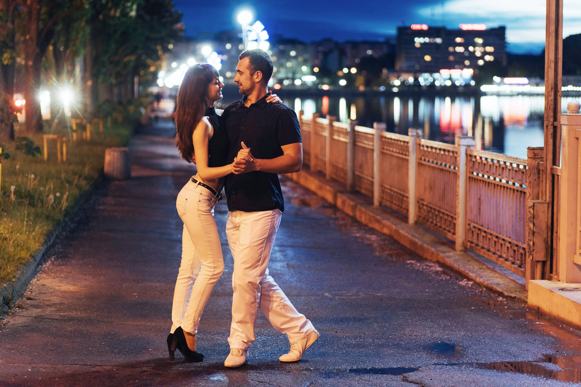
[[[228,211],[226,235],[234,257],[230,348],[247,350],[256,340],[254,322],[260,309],[272,326],[295,342],[314,331],[274,279],[268,260],[281,222],[281,211]]]

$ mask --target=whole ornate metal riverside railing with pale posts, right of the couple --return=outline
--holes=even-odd
[[[346,124],[300,112],[304,160],[311,171],[346,184],[415,222],[525,276],[526,159],[477,151],[474,138],[456,144]],[[309,142],[310,141],[310,142]],[[530,188],[529,188],[530,189]]]

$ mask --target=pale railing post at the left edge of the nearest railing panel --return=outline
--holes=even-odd
[[[466,149],[474,148],[474,137],[457,136],[456,147],[458,147],[458,185],[456,202],[456,251],[465,251],[466,228],[468,227],[468,216],[466,207],[466,196],[468,193],[468,165]]]

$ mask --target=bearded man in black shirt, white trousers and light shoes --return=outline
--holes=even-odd
[[[234,257],[232,324],[226,367],[246,363],[256,339],[258,309],[272,326],[285,333],[290,351],[281,362],[296,362],[319,337],[313,324],[296,311],[268,274],[268,260],[284,211],[279,173],[300,170],[303,148],[295,112],[283,104],[268,104],[272,60],[260,49],[240,54],[234,82],[243,98],[222,115],[230,140],[226,177],[228,198],[226,235]],[[251,153],[252,152],[252,153]]]

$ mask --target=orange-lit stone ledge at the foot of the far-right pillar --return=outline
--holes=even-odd
[[[581,284],[549,280],[530,280],[530,309],[581,328]]]

